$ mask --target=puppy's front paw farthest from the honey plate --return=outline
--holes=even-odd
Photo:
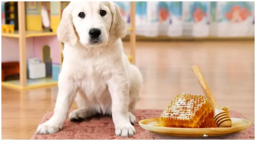
[[[47,121],[37,127],[36,134],[53,134],[61,129],[62,126],[55,125]]]

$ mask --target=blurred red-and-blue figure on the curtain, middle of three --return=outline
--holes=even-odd
[[[207,17],[207,4],[203,2],[193,2],[192,13],[195,23],[202,21]]]

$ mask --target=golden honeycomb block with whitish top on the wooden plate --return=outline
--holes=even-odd
[[[199,128],[211,112],[206,96],[181,93],[164,109],[160,122],[164,127]]]

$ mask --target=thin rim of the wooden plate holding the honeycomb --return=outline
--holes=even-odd
[[[140,127],[142,127],[142,126],[147,126],[147,127],[152,127],[152,125],[146,125],[146,124],[142,124],[141,122],[143,122],[143,121],[146,121],[146,120],[150,120],[150,119],[157,119],[157,118],[149,118],[149,119],[144,119],[144,120],[140,120],[138,123],[139,123],[139,125],[140,125]],[[236,126],[236,127],[243,127],[243,126],[251,126],[252,125],[252,122],[251,121],[249,121],[249,120],[247,120],[247,119],[244,119],[244,118],[232,118],[231,117],[231,121],[232,121],[232,119],[241,119],[241,120],[246,120],[247,122],[249,122],[248,124],[246,124],[246,125],[240,125],[240,126]],[[142,125],[142,126],[141,126]],[[182,130],[184,130],[184,129],[186,129],[186,130],[204,130],[204,129],[216,129],[216,128],[176,128],[176,127],[160,127],[160,126],[153,126],[154,128],[159,128],[159,129],[166,129],[166,128],[168,128],[168,129],[177,129],[177,130],[179,130],[179,129],[182,129]],[[143,127],[142,127],[143,128]],[[231,128],[235,128],[235,127],[219,127],[220,129],[231,129]],[[144,128],[145,129],[145,128]],[[147,129],[145,129],[145,130],[147,130]]]

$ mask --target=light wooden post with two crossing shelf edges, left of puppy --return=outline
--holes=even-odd
[[[18,31],[14,33],[1,33],[2,37],[18,38],[19,45],[19,84],[15,85],[8,82],[1,82],[1,86],[24,90],[33,89],[47,86],[56,86],[57,82],[49,82],[45,84],[27,85],[27,58],[26,58],[26,38],[29,37],[43,37],[43,36],[56,36],[56,32],[44,31],[26,31],[26,10],[25,1],[18,1]]]

